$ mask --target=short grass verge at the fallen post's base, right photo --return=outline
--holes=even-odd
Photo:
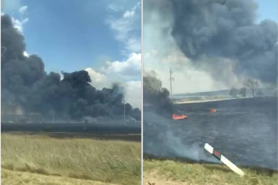
[[[145,160],[144,184],[156,185],[277,185],[277,172],[242,168],[240,177],[217,164],[188,164],[170,160]]]

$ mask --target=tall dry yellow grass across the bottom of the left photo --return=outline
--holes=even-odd
[[[119,140],[1,134],[5,184],[140,184],[141,144]]]

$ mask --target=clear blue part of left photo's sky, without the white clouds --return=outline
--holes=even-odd
[[[28,18],[23,25],[26,51],[38,54],[45,62],[46,71],[75,71],[87,67],[99,68],[106,60],[124,61],[128,54],[125,43],[116,38],[117,31],[109,19],[117,20],[122,12],[132,9],[139,1],[114,1],[119,12],[113,11],[113,1],[94,0],[4,0],[2,10],[19,20]],[[82,2],[82,3],[80,3]],[[8,4],[8,5],[7,5]],[[13,4],[13,7],[10,7]],[[18,10],[28,6],[26,12]],[[137,12],[140,12],[140,5]],[[140,39],[140,19],[133,25],[132,34]],[[140,76],[138,77],[140,79]]]

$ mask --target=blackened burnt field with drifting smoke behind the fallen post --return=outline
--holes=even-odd
[[[277,169],[277,97],[175,104],[173,113],[188,119],[144,109],[145,156],[219,163],[209,143],[237,165]]]

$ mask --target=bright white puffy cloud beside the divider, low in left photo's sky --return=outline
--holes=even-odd
[[[141,75],[141,53],[131,53],[125,61],[106,62],[107,66],[101,70],[107,74],[117,73],[120,76],[135,76]]]

